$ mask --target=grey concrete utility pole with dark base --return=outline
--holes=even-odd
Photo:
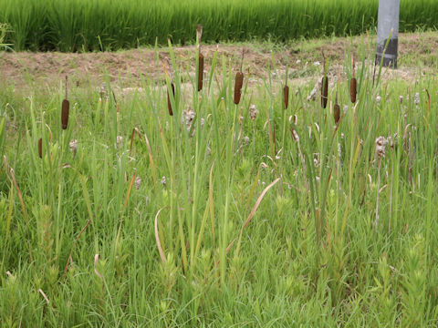
[[[377,18],[377,65],[381,64],[381,57],[383,57],[384,67],[397,68],[399,14],[400,0],[379,0],[379,15]],[[390,35],[391,38],[385,51],[385,46]]]

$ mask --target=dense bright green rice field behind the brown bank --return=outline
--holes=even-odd
[[[3,0],[16,50],[95,51],[173,43],[350,36],[374,31],[378,0]],[[401,0],[400,30],[436,29],[435,0]]]

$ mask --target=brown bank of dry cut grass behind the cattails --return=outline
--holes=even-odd
[[[322,53],[328,58],[329,73],[336,76],[344,65],[346,54],[360,56],[367,54],[368,62],[374,57],[376,36],[355,36],[348,38],[325,38],[302,40],[289,45],[267,43],[220,44],[202,47],[205,71],[209,71],[214,53],[217,51],[219,67],[222,71],[222,57],[233,70],[240,67],[242,50],[245,52],[244,72],[250,73],[252,81],[267,77],[271,72],[284,72],[289,67],[289,77],[296,83],[305,83],[320,75]],[[173,47],[176,62],[181,72],[192,72],[194,76],[196,49],[194,46]],[[399,36],[399,69],[388,74],[414,80],[421,74],[433,72],[437,64],[438,33],[402,34]],[[157,60],[159,59],[159,60]],[[275,65],[275,67],[274,67]],[[99,86],[110,80],[118,87],[141,86],[141,76],[152,81],[162,81],[164,71],[170,69],[169,48],[139,48],[120,52],[99,53],[0,53],[1,84],[24,89],[39,86],[51,89],[68,75],[70,83],[76,87],[89,87],[90,82]],[[182,73],[182,77],[184,78]],[[293,84],[294,81],[291,81]]]

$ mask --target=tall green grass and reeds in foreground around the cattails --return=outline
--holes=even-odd
[[[245,77],[236,106],[224,58],[198,93],[172,56],[166,87],[70,87],[67,130],[63,81],[26,97],[2,87],[1,325],[436,326],[436,77],[408,85],[363,66],[353,105],[345,63],[326,110],[307,100],[313,85],[289,82],[285,111],[276,63],[263,85]],[[375,139],[394,134],[376,158]]]

